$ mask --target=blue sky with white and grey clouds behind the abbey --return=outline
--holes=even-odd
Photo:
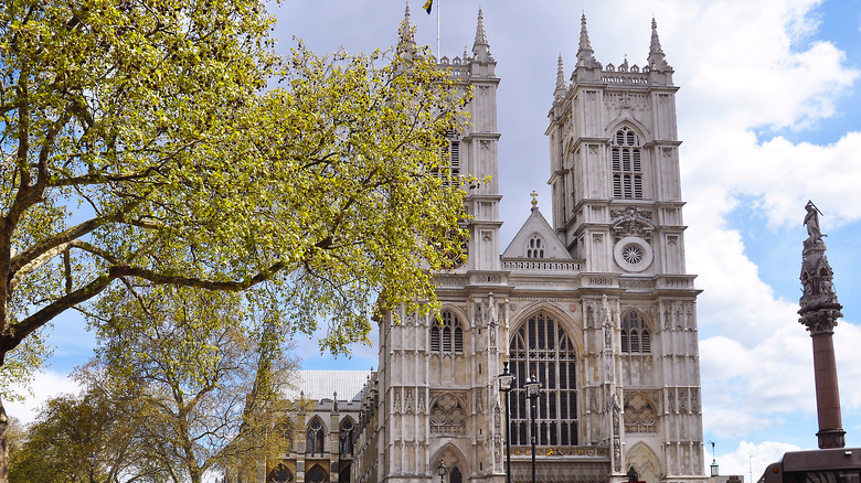
[[[442,4],[440,4],[442,3]],[[436,50],[436,12],[411,0],[419,43]],[[478,0],[435,0],[442,55],[475,37]],[[550,217],[546,112],[556,58],[574,64],[585,12],[596,58],[645,64],[650,22],[674,67],[688,269],[697,273],[704,440],[722,474],[754,479],[780,453],[814,449],[818,430],[811,343],[797,322],[805,203],[822,211],[844,319],[835,333],[847,443],[861,447],[861,1],[486,0],[498,92],[503,243],[530,208]],[[403,0],[281,0],[272,7],[279,50],[294,36],[318,53],[386,49]],[[570,74],[570,69],[566,71]],[[64,374],[92,354],[75,321],[59,321],[39,394],[71,387]],[[312,346],[312,344],[305,344]],[[306,368],[370,368],[305,355]],[[26,406],[32,406],[32,401]],[[12,416],[29,419],[26,406]],[[18,414],[17,414],[18,412]]]

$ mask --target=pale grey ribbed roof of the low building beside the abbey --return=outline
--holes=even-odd
[[[306,399],[339,400],[361,398],[362,387],[371,377],[371,371],[296,371],[291,388],[285,391],[288,399],[300,396]]]

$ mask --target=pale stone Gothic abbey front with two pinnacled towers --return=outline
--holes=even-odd
[[[401,42],[412,41],[407,10]],[[442,323],[408,313],[379,322],[350,480],[504,483],[503,363],[515,376],[511,482],[532,481],[532,438],[542,483],[705,479],[678,87],[653,20],[648,52],[641,65],[603,65],[583,17],[576,64],[566,76],[560,58],[549,112],[552,217],[533,200],[503,251],[500,79],[480,10],[471,55],[439,60],[472,87],[451,162],[490,181],[466,200],[467,261],[437,279]],[[534,429],[531,374],[543,385]]]

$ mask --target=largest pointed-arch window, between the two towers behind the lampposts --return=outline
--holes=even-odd
[[[511,397],[511,443],[530,444],[529,400],[523,383],[531,373],[543,384],[538,400],[538,444],[577,444],[576,353],[564,329],[545,313],[520,325],[509,359],[517,384]]]

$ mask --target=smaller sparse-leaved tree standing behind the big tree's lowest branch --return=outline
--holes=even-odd
[[[266,314],[246,316],[240,296],[160,286],[127,292],[102,325],[111,377],[137,384],[138,444],[174,479],[200,482],[212,469],[284,452],[268,438],[283,409],[291,363]]]

